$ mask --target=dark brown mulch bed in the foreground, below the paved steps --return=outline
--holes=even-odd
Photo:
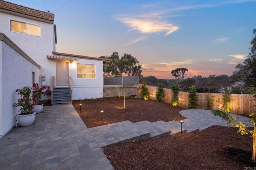
[[[252,138],[236,128],[202,131],[116,144],[104,148],[115,170],[243,170],[256,167]],[[232,149],[228,150],[228,146]]]

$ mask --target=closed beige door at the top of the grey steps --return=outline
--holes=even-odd
[[[68,62],[57,61],[57,86],[68,85]]]

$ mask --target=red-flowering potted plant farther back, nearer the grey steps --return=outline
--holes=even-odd
[[[39,87],[38,83],[34,83],[32,87],[32,101],[35,104],[32,111],[40,113],[43,110],[44,101],[42,97],[45,95],[44,90],[50,89],[49,86]]]

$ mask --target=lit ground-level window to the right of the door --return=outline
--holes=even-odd
[[[77,63],[77,78],[96,79],[96,65]]]

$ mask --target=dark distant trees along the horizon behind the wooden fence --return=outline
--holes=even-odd
[[[171,71],[175,79],[158,79],[155,76],[144,77],[141,73],[139,61],[130,54],[124,54],[121,58],[118,52],[113,52],[110,56],[100,56],[101,58],[112,59],[110,63],[104,65],[103,71],[107,75],[132,75],[139,76],[139,83],[143,81],[147,85],[159,86],[170,89],[173,83],[178,83],[181,91],[188,91],[192,85],[196,87],[198,93],[246,93],[250,86],[256,85],[256,29],[253,30],[254,38],[250,42],[252,47],[243,63],[236,65],[236,71],[229,77],[228,75],[201,75],[186,78],[186,68],[177,68]]]

